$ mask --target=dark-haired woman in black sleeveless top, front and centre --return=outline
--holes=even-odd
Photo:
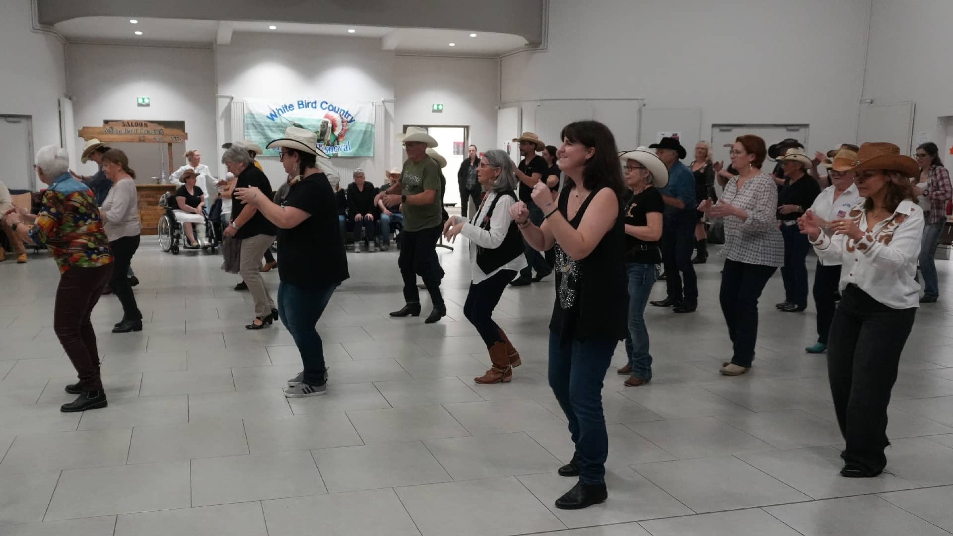
[[[566,175],[562,193],[554,198],[542,182],[533,190],[533,200],[545,215],[542,225],[529,221],[523,203],[511,211],[523,237],[537,251],[556,248],[549,384],[576,443],[572,462],[559,474],[579,477],[556,506],[575,509],[607,497],[609,441],[602,380],[618,341],[625,339],[628,295],[616,140],[597,121],[570,123],[559,137],[559,168]]]

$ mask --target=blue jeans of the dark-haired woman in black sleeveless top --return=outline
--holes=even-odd
[[[602,413],[602,381],[617,344],[611,339],[561,340],[557,332],[549,334],[549,386],[569,420],[582,484],[605,482],[609,437]]]

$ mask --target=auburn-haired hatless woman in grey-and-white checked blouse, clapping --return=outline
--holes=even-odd
[[[699,210],[709,220],[724,218],[725,257],[721,271],[721,314],[728,324],[734,352],[721,363],[720,373],[740,376],[751,369],[758,340],[758,299],[768,279],[784,263],[784,240],[778,230],[778,187],[761,172],[767,149],[757,135],[742,135],[731,149],[738,170],[714,205],[702,201]]]

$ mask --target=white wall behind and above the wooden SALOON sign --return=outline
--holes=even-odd
[[[67,89],[77,130],[102,126],[106,119],[185,121],[189,134],[186,147],[198,149],[205,163],[215,169],[212,49],[71,44],[67,46],[67,61]],[[149,96],[152,106],[136,106],[137,96]],[[77,148],[83,147],[82,139],[77,137],[76,143]],[[136,162],[130,160],[139,182],[159,175],[158,155],[165,151],[165,145],[154,145],[154,159],[148,164],[140,163],[137,169]],[[183,153],[173,153],[174,167],[185,163]],[[96,166],[89,162],[80,169],[91,175]]]

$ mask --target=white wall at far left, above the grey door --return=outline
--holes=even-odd
[[[60,145],[59,97],[66,92],[63,44],[31,28],[30,0],[4,2],[0,16],[0,113],[32,116],[33,150]]]

